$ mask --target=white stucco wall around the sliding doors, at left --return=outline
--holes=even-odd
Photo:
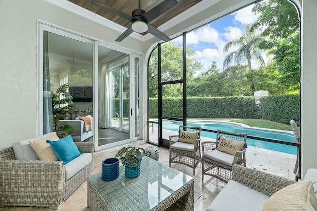
[[[0,148],[37,133],[37,20],[142,52],[131,37],[44,0],[0,0]]]

